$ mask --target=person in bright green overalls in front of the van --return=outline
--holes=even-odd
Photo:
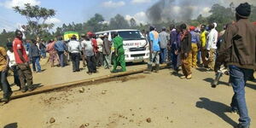
[[[123,38],[118,36],[118,32],[113,32],[113,70],[111,73],[116,73],[117,66],[122,67],[122,71],[126,71],[125,67],[125,49],[123,47]]]

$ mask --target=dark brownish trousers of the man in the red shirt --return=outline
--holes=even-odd
[[[21,88],[24,89],[32,86],[32,71],[29,65],[26,64],[18,64],[17,73],[20,79]]]

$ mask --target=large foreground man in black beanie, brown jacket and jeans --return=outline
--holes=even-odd
[[[231,110],[240,115],[237,128],[249,128],[251,122],[247,112],[245,85],[256,69],[256,26],[248,20],[250,14],[251,6],[248,3],[241,3],[236,8],[236,23],[225,31],[217,58],[217,61],[226,62],[230,68],[230,84],[235,92]],[[218,71],[217,66],[214,71]]]

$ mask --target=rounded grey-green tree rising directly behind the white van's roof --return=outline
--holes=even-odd
[[[125,29],[129,27],[129,23],[127,20],[125,20],[125,17],[119,14],[111,18],[109,22],[110,29]]]

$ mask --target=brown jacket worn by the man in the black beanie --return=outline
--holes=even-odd
[[[256,26],[241,19],[224,33],[217,61],[236,67],[256,69]]]

